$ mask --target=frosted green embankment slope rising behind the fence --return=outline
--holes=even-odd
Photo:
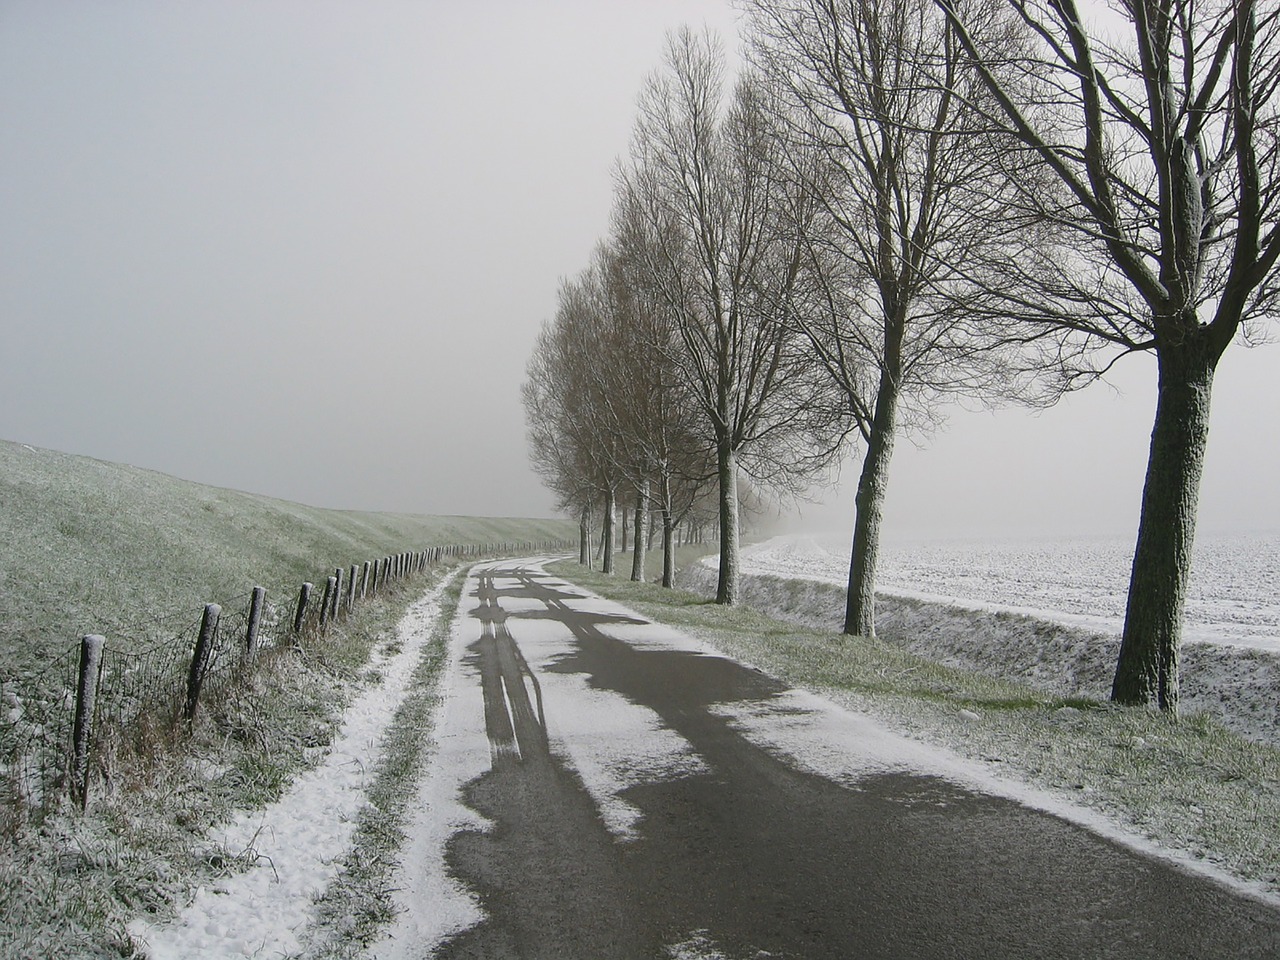
[[[292,602],[302,581],[323,586],[335,567],[389,553],[576,532],[557,520],[320,509],[0,440],[0,681],[38,676],[83,634],[146,643],[155,618],[198,618],[255,584]]]

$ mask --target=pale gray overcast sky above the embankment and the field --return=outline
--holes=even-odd
[[[547,515],[520,384],[635,97],[717,0],[0,0],[0,436],[326,507]],[[732,42],[732,41],[731,41]],[[1202,529],[1280,530],[1280,347]],[[890,531],[1130,534],[1153,370],[901,443]],[[835,506],[801,512],[842,527]]]

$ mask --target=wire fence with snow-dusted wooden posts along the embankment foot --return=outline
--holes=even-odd
[[[0,704],[0,810],[40,818],[70,799],[83,809],[92,785],[122,754],[145,754],[191,723],[200,699],[251,675],[264,650],[324,641],[330,623],[393,581],[484,557],[562,550],[568,540],[449,544],[335,568],[296,596],[253,591],[198,614],[147,612],[110,637],[86,636],[44,669],[8,684]],[[257,599],[257,604],[255,604]],[[127,637],[127,643],[120,643]]]

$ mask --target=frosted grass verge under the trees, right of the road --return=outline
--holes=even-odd
[[[899,732],[1280,891],[1280,750],[1249,742],[1207,717],[1170,722],[946,666],[899,644],[604,577],[571,562],[550,570]]]

